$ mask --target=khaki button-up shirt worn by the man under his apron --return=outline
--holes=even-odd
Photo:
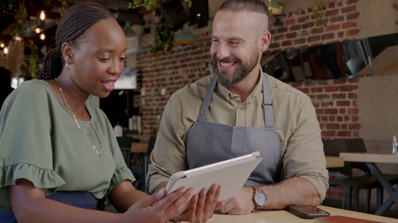
[[[151,154],[152,164],[148,168],[147,181],[151,193],[160,183],[167,182],[173,173],[187,169],[185,138],[199,116],[213,76],[209,75],[178,90],[164,108]],[[281,179],[308,179],[321,200],[324,200],[329,177],[314,106],[310,98],[299,90],[267,74],[265,77],[269,81],[273,118],[281,143]],[[243,103],[240,96],[233,95],[227,88],[217,84],[205,121],[230,126],[265,127],[261,106],[262,83],[263,75],[260,75],[253,92]]]

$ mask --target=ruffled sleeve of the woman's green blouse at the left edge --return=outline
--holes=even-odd
[[[31,81],[28,81],[31,82]],[[32,88],[31,85],[39,85]],[[47,94],[40,81],[23,83],[0,112],[0,208],[11,210],[8,187],[28,179],[51,194],[64,180],[53,170],[52,126]],[[36,86],[35,86],[36,87]]]

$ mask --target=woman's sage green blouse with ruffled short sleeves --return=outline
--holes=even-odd
[[[0,209],[12,210],[7,186],[21,178],[45,188],[46,195],[90,192],[102,206],[110,204],[105,195],[121,181],[135,181],[105,113],[86,106],[101,158],[46,81],[25,81],[8,96],[0,112]],[[77,121],[100,152],[90,121]]]

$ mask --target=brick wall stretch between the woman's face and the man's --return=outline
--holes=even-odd
[[[158,125],[156,115],[162,114],[170,96],[178,89],[210,74],[211,27],[204,27],[196,35],[196,44],[176,44],[165,54],[152,54],[152,46],[143,47],[137,54],[137,76],[142,78],[145,96],[135,96],[135,107],[140,108],[143,134],[151,134]],[[160,95],[166,88],[166,95]]]

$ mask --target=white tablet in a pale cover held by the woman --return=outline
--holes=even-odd
[[[218,201],[232,198],[238,194],[250,174],[263,160],[259,156],[259,152],[253,152],[246,156],[179,171],[170,177],[166,186],[166,193],[170,194],[181,186],[185,186],[186,188],[194,188],[193,194],[199,194],[202,188],[209,191],[211,185],[217,183],[222,186]],[[188,208],[189,204],[180,213],[187,211]]]

